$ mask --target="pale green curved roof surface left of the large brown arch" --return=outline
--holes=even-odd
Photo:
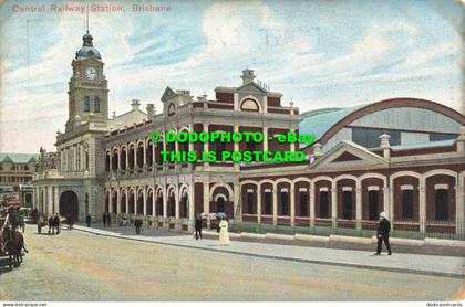
[[[317,141],[341,119],[365,106],[368,104],[345,108],[321,108],[306,112],[300,117],[299,134],[314,134],[314,141]]]

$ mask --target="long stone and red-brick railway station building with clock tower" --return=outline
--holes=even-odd
[[[34,207],[83,221],[111,212],[146,226],[192,231],[196,214],[234,222],[372,229],[381,211],[394,229],[464,232],[465,117],[441,104],[393,98],[299,114],[254,71],[215,99],[169,87],[163,112],[108,118],[101,54],[87,33],[72,61],[69,119],[54,168],[34,176]],[[262,144],[166,142],[152,131],[260,131]],[[310,147],[269,136],[314,134]],[[304,162],[162,162],[161,151],[303,150]],[[207,221],[209,223],[209,220]]]

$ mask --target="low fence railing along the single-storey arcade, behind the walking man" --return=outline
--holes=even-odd
[[[371,237],[376,235],[378,225],[373,221],[364,221],[362,226],[289,226],[267,223],[236,222],[229,225],[230,232],[311,234],[328,236],[331,234]],[[392,223],[390,236],[423,240],[425,237],[444,240],[465,240],[465,221],[399,221]]]

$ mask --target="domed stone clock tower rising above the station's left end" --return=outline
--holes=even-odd
[[[82,47],[71,63],[73,75],[69,82],[69,119],[66,133],[86,123],[106,124],[108,118],[107,81],[102,57],[92,43],[92,35],[82,38]]]

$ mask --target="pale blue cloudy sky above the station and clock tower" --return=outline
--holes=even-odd
[[[68,118],[71,61],[82,45],[85,14],[0,8],[0,151],[53,149]],[[252,68],[285,104],[301,110],[392,97],[461,104],[457,1],[152,1],[170,12],[91,12],[94,46],[105,63],[110,110],[144,108],[166,86],[194,96],[240,85]],[[148,3],[151,1],[146,1]]]

